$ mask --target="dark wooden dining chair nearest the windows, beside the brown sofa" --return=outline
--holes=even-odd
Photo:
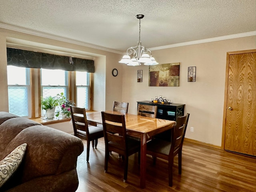
[[[104,137],[103,129],[96,126],[88,126],[85,108],[70,106],[74,136],[87,140],[86,161],[89,161],[90,141],[92,148],[97,148],[98,138]]]

